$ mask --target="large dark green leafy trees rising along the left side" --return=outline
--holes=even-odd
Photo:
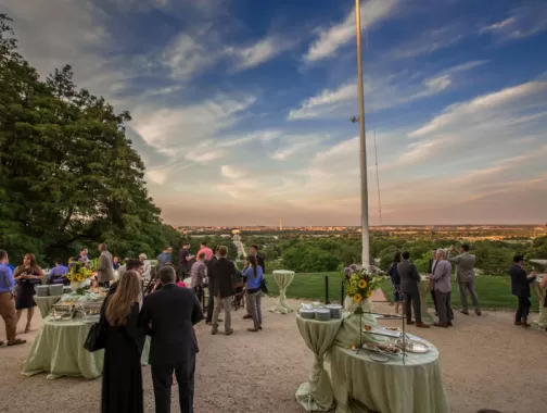
[[[144,164],[125,136],[128,112],[78,89],[71,66],[41,79],[0,14],[0,248],[42,265],[93,254],[155,256],[181,237],[162,223]]]

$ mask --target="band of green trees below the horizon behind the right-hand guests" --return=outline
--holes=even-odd
[[[336,271],[340,265],[359,263],[361,261],[360,235],[342,237],[309,238],[304,236],[272,237],[249,236],[245,245],[262,246],[266,260],[272,262],[271,267],[284,267],[300,273]],[[428,261],[433,249],[460,249],[458,239],[432,239],[416,237],[378,237],[370,239],[370,260],[381,270],[387,270],[397,251],[410,252],[411,260],[420,272],[427,272]],[[536,238],[532,242],[504,242],[481,240],[471,243],[476,255],[476,267],[487,275],[506,275],[517,253],[526,259],[547,259],[547,237]]]

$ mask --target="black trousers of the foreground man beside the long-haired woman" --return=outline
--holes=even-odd
[[[173,373],[177,377],[179,388],[180,413],[193,413],[195,356],[174,364],[152,364],[151,370],[155,413],[170,413]]]

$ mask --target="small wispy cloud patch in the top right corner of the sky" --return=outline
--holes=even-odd
[[[547,9],[543,1],[532,1],[513,9],[509,16],[479,30],[480,35],[492,35],[500,41],[519,40],[547,30]]]

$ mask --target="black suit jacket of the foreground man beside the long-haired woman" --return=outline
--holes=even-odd
[[[198,353],[194,324],[203,320],[195,292],[167,284],[144,297],[139,325],[152,324],[150,364],[165,365],[191,360]]]

